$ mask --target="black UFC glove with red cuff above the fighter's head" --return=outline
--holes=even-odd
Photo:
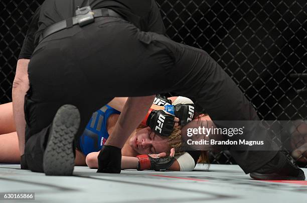
[[[152,131],[162,136],[170,136],[175,125],[175,116],[163,110],[154,110],[150,108],[142,125],[149,126]]]

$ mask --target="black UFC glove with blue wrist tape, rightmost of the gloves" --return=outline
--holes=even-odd
[[[165,110],[175,117],[180,119],[180,125],[186,125],[188,122],[193,120],[195,105],[191,104],[177,104],[177,105],[166,105]]]

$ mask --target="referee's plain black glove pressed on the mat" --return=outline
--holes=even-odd
[[[97,172],[120,173],[121,149],[116,146],[104,145],[98,155]]]

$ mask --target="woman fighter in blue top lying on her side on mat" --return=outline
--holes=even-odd
[[[92,115],[84,133],[77,140],[76,165],[87,164],[89,167],[97,167],[99,150],[113,130],[120,114],[118,110],[122,109],[126,99],[125,97],[115,98],[109,102],[109,105],[103,106]],[[154,103],[159,105],[172,103],[176,105],[178,103],[193,102],[189,98],[179,96],[170,97],[169,99],[156,98]],[[112,108],[110,105],[118,110]],[[155,104],[152,107],[155,109],[164,109],[163,106]],[[3,134],[0,136],[0,144],[2,145],[0,150],[3,151],[0,153],[2,154],[0,156],[0,162],[19,162],[18,138],[16,132],[13,132],[15,131],[15,126],[13,122],[12,103],[0,105],[0,111],[2,112],[2,119],[0,120],[3,123],[0,125],[0,134]],[[165,152],[170,151],[172,147],[175,148],[176,154],[181,155],[176,156],[176,160],[169,169],[182,171],[192,170],[196,163],[195,160],[199,157],[199,153],[194,151],[198,156],[194,155],[195,157],[193,158],[189,153],[181,151],[180,127],[175,127],[169,137],[157,135],[148,126],[138,127],[133,131],[122,148],[122,169],[137,168],[138,158],[135,156],[139,154],[152,154],[150,155],[152,157],[164,157],[166,156]],[[171,150],[171,155],[174,156],[174,150]],[[202,157],[204,160],[204,153]]]

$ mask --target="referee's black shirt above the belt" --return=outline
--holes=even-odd
[[[92,9],[110,8],[142,31],[165,34],[165,26],[155,0],[45,0],[33,16],[19,58],[31,58],[46,27],[75,16],[77,6],[86,5]]]

